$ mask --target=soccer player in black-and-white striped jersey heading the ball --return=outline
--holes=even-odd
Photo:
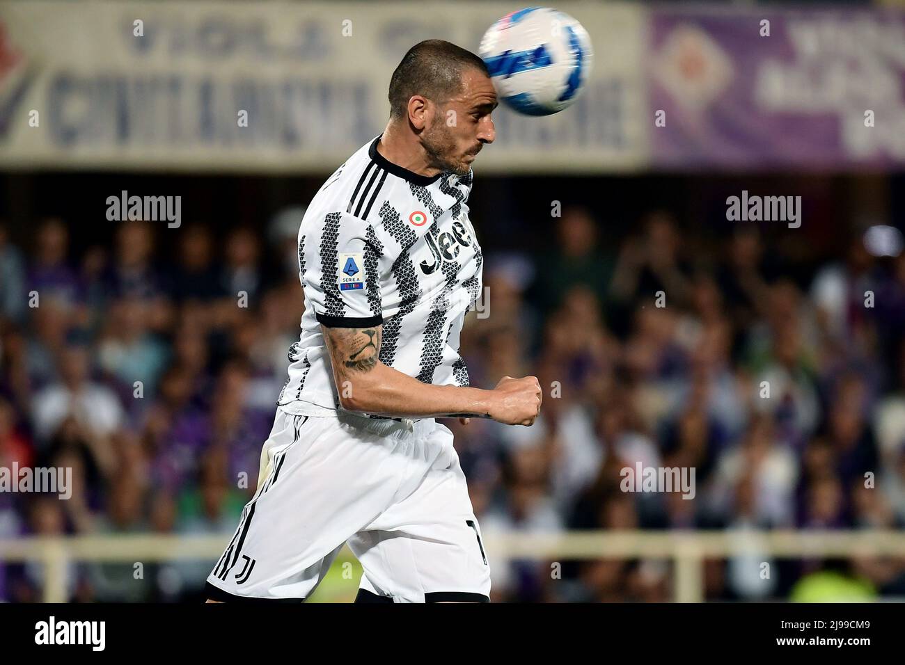
[[[389,101],[384,132],[301,221],[300,339],[211,601],[303,601],[346,543],[364,569],[356,602],[490,601],[452,432],[434,419],[540,412],[536,377],[470,387],[458,352],[481,292],[471,164],[493,142],[496,93],[478,56],[429,40],[405,53]]]

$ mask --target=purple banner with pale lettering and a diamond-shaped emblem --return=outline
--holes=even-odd
[[[905,12],[658,8],[649,58],[654,166],[905,165]]]

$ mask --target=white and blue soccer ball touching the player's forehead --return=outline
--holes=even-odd
[[[484,33],[478,51],[500,100],[529,116],[570,106],[594,58],[585,28],[548,7],[506,14]]]

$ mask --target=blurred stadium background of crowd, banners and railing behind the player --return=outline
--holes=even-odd
[[[545,388],[531,428],[447,423],[493,600],[905,598],[905,11],[556,6],[585,95],[496,111],[469,201],[472,385]],[[408,47],[519,8],[0,4],[0,467],[75,479],[0,492],[0,600],[200,599],[298,335],[303,206]],[[123,191],[181,222],[108,221]],[[800,226],[729,221],[743,192]],[[638,462],[694,498],[622,491]]]

